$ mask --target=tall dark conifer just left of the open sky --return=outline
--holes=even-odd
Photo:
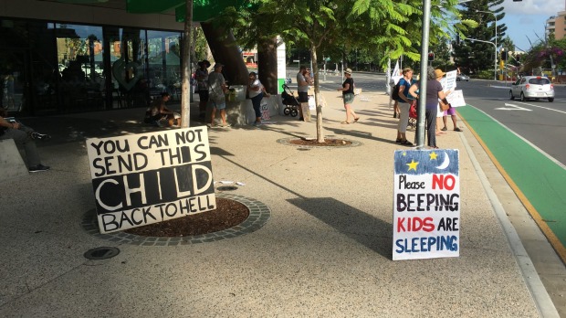
[[[493,70],[494,55],[496,51],[494,46],[484,42],[472,42],[469,39],[475,38],[495,43],[495,18],[497,17],[497,42],[498,47],[500,46],[501,40],[505,36],[505,31],[507,30],[507,26],[500,23],[505,16],[505,13],[503,12],[504,7],[500,6],[502,3],[503,0],[474,0],[462,4],[464,8],[461,10],[462,19],[477,21],[477,27],[468,28],[467,32],[461,32],[462,40],[459,44],[453,43],[456,66],[460,67],[463,71],[478,73],[480,70]],[[491,13],[477,11],[486,11]]]

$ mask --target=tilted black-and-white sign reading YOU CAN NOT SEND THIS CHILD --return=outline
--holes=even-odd
[[[87,140],[100,233],[216,208],[206,128]]]

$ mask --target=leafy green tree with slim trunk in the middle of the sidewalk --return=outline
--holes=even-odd
[[[503,1],[503,0],[498,0]],[[449,23],[459,21],[457,0],[433,0],[430,42],[448,37]],[[318,54],[345,57],[352,50],[372,53],[385,65],[388,58],[418,60],[421,51],[423,2],[421,0],[254,0],[249,10],[228,8],[219,19],[235,26],[244,48],[268,37],[280,36],[296,48],[309,48],[319,101]],[[446,19],[446,16],[454,16]],[[466,26],[460,24],[461,29]],[[428,48],[428,44],[426,44]],[[323,142],[321,109],[317,107],[317,139]]]

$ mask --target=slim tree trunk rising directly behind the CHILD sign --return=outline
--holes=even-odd
[[[183,58],[181,82],[181,127],[191,123],[191,39],[193,38],[193,0],[186,0],[186,15],[183,32]]]

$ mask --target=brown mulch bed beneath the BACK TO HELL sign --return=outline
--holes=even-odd
[[[216,197],[214,210],[173,218],[140,228],[129,228],[124,232],[142,237],[190,237],[236,227],[248,216],[249,209],[243,204],[235,200]]]

